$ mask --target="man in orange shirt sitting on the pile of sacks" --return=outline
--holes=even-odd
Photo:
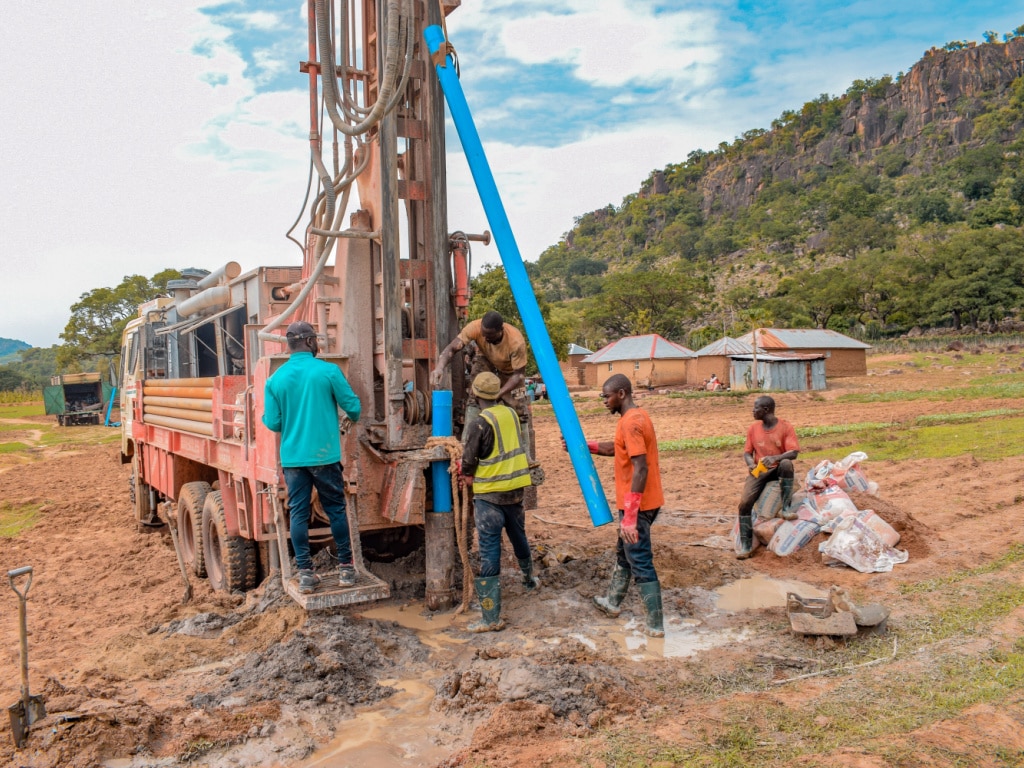
[[[778,480],[782,496],[782,517],[793,520],[797,517],[791,509],[793,499],[793,462],[800,453],[797,431],[784,419],[775,416],[775,400],[761,395],[754,400],[754,423],[746,430],[743,445],[743,462],[746,464],[746,480],[739,498],[739,549],[737,559],[743,560],[754,552],[754,519],[752,511],[764,490],[772,480]]]

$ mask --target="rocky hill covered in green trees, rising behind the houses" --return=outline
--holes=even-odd
[[[986,39],[654,170],[541,254],[536,290],[590,345],[1021,325],[1024,26]]]

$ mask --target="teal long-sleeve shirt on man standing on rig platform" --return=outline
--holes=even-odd
[[[281,432],[281,466],[319,467],[341,461],[338,409],[359,420],[359,398],[337,366],[292,352],[267,380],[263,424]]]

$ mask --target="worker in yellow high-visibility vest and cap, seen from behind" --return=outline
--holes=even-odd
[[[473,484],[473,512],[480,547],[480,577],[473,580],[483,613],[469,626],[470,632],[505,629],[502,610],[502,529],[522,570],[522,584],[535,590],[534,558],[526,540],[522,509],[523,488],[530,484],[529,465],[519,436],[515,412],[499,400],[501,381],[489,372],[477,374],[472,392],[479,400],[480,415],[466,427],[461,473]]]

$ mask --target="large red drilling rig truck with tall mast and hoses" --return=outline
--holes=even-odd
[[[484,238],[447,228],[444,106],[422,34],[459,2],[336,1],[309,1],[300,65],[319,179],[295,241],[301,265],[186,269],[139,308],[122,343],[122,461],[137,521],[174,526],[187,568],[215,589],[244,591],[281,569],[307,608],[386,597],[361,541],[386,558],[423,547],[426,603],[444,608],[457,558],[453,515],[432,499],[431,463],[447,456],[428,446],[429,376],[467,319],[469,241]],[[360,207],[346,219],[352,183]],[[279,437],[261,421],[265,383],[288,359],[285,328],[300,319],[364,414],[342,427],[357,584],[326,577],[311,595],[289,580]],[[458,434],[464,367],[452,371]],[[316,504],[310,536],[330,541]]]

